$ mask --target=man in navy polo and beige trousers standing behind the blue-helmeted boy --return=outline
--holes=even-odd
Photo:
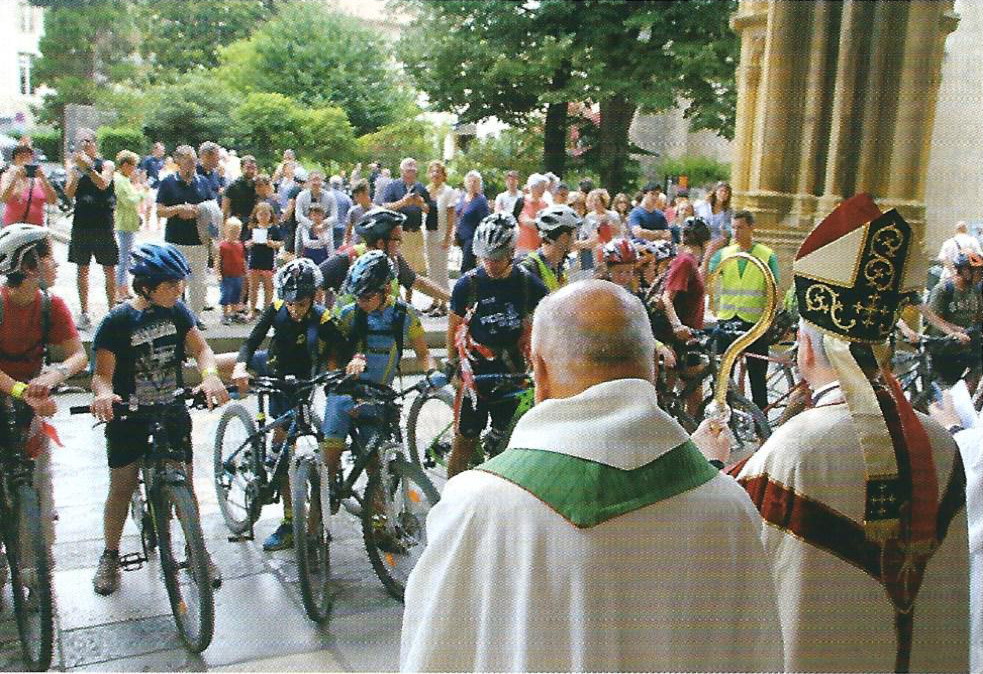
[[[198,204],[212,199],[205,178],[196,170],[198,157],[190,145],[174,150],[177,173],[160,181],[157,212],[167,218],[164,241],[184,253],[191,265],[188,306],[195,316],[205,308],[205,274],[208,269],[208,246],[198,236]]]

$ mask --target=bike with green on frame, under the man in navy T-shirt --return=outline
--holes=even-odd
[[[485,397],[495,401],[517,400],[518,407],[504,433],[486,430],[471,457],[471,467],[502,453],[508,447],[512,430],[535,404],[532,377],[519,374],[479,374]],[[413,400],[406,420],[406,437],[410,460],[440,480],[447,479],[447,460],[454,439],[454,390],[444,386],[423,393]]]

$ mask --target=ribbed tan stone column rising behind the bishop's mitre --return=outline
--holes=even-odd
[[[952,0],[742,0],[731,184],[788,267],[807,229],[873,194],[915,227]],[[764,42],[763,53],[761,43]],[[759,61],[760,59],[760,61]]]

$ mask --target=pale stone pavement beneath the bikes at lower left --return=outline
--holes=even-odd
[[[194,482],[206,545],[222,569],[216,592],[215,637],[200,656],[180,642],[152,559],[123,573],[118,592],[101,597],[92,576],[102,543],[108,490],[105,440],[91,417],[69,417],[85,394],[59,398],[53,448],[58,512],[54,546],[57,647],[53,668],[80,671],[389,671],[398,666],[402,604],[392,599],[366,557],[358,521],[343,524],[331,548],[336,590],[324,625],[309,620],[300,600],[292,551],[264,553],[262,540],[279,523],[281,506],[264,508],[256,540],[229,542],[212,482],[212,446],[220,410],[194,413]],[[127,521],[121,553],[140,548]],[[0,670],[23,668],[9,592],[0,616]]]

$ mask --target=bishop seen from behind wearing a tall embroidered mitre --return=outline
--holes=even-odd
[[[885,344],[916,247],[896,211],[858,195],[792,267],[813,409],[737,467],[764,519],[788,671],[968,667],[963,462],[911,409]]]

